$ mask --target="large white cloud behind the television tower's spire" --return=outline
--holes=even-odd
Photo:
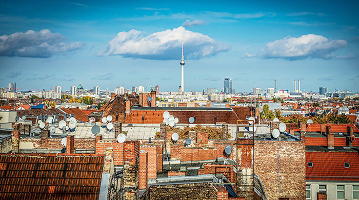
[[[228,46],[216,42],[202,33],[186,30],[180,26],[143,36],[141,31],[119,32],[99,55],[122,55],[144,59],[179,59],[182,37],[185,59],[200,59],[227,51]]]

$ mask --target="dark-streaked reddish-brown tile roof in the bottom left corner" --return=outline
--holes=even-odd
[[[98,199],[104,155],[0,153],[0,199]]]

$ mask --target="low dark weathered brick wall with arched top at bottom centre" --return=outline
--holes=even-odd
[[[217,199],[217,188],[212,183],[154,185],[147,199]]]

